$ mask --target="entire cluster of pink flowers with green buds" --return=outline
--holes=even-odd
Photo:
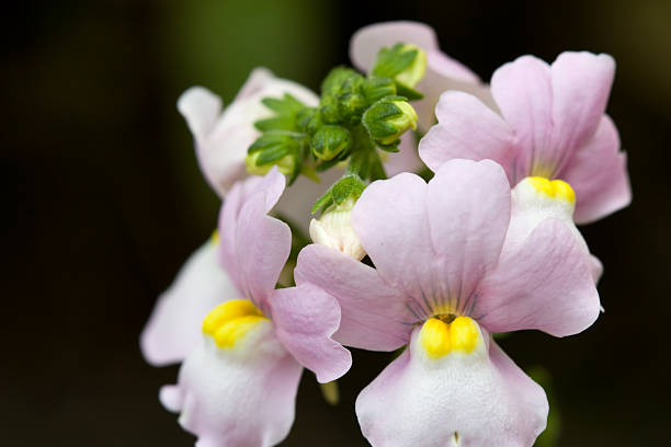
[[[373,446],[532,446],[545,392],[492,334],[599,317],[576,224],[630,200],[614,61],[523,56],[486,84],[411,22],[359,31],[351,58],[364,74],[336,68],[319,96],[260,68],[224,111],[180,98],[223,206],[140,336],[182,363],[160,400],[200,447],[276,445],[304,368],[330,383],[344,346],[396,351],[356,399]]]

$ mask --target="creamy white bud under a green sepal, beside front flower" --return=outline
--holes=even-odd
[[[340,205],[333,204],[326,209],[319,220],[312,219],[310,238],[315,243],[330,247],[361,261],[366,252],[361,247],[361,241],[350,222],[355,202],[353,197],[350,197]]]

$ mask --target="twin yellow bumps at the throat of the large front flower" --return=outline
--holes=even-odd
[[[441,358],[452,352],[471,353],[479,343],[477,323],[468,317],[457,317],[451,323],[437,318],[427,320],[420,331],[420,343],[430,358]]]

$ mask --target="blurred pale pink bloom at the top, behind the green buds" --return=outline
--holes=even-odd
[[[427,53],[427,73],[416,87],[424,99],[412,103],[421,131],[427,131],[435,122],[433,108],[445,90],[465,91],[490,101],[489,91],[477,74],[442,53],[435,32],[423,23],[400,21],[365,26],[352,36],[350,58],[356,68],[367,72],[379,49],[397,43],[412,44]]]

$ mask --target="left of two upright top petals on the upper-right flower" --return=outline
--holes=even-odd
[[[554,163],[558,157],[551,147],[550,68],[538,58],[522,56],[494,71],[491,77],[491,93],[503,118],[514,130],[515,153],[509,161],[507,171],[511,185],[515,185],[518,181],[530,175],[536,163]]]

